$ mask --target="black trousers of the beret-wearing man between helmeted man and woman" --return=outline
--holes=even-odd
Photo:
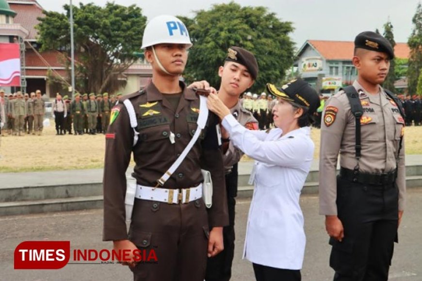
[[[234,219],[237,196],[237,164],[226,175],[228,221],[229,225],[223,228],[224,250],[207,262],[206,281],[228,281],[231,277],[231,265],[234,257]]]

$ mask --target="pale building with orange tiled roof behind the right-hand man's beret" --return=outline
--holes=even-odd
[[[357,78],[352,63],[354,47],[352,41],[307,40],[296,53],[295,66],[316,90],[333,93]],[[406,43],[396,43],[394,54],[397,58],[408,58],[410,49]]]

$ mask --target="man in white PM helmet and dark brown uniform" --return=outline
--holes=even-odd
[[[135,281],[203,281],[207,252],[212,257],[224,248],[227,197],[216,115],[210,112],[199,140],[169,172],[197,130],[199,97],[179,81],[191,46],[178,18],[149,21],[142,48],[152,81],[119,100],[106,133],[103,240],[113,241],[114,250],[130,250],[131,261],[139,261],[133,251],[146,251],[149,260],[129,263]],[[132,152],[137,186],[128,234],[125,172]],[[201,198],[201,169],[211,172],[209,209]]]

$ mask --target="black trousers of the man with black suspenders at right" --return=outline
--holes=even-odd
[[[397,239],[398,188],[337,179],[341,242],[331,238],[334,281],[387,281]]]

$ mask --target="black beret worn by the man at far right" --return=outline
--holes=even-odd
[[[390,60],[394,59],[394,49],[391,47],[390,42],[382,35],[373,31],[363,31],[357,34],[355,38],[355,48],[386,53]]]

